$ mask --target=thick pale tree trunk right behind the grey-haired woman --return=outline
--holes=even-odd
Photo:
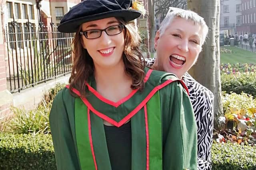
[[[204,18],[209,27],[208,38],[190,74],[214,94],[214,128],[223,115],[220,84],[219,20],[220,0],[188,0],[188,9]]]

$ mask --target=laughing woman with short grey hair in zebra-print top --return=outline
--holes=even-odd
[[[147,66],[174,73],[188,86],[197,123],[198,170],[211,169],[214,96],[187,71],[198,60],[207,33],[204,18],[190,10],[170,7],[156,33],[154,47],[157,57],[145,59]]]

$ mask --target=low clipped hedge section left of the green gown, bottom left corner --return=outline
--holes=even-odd
[[[51,135],[0,133],[1,170],[56,170]]]

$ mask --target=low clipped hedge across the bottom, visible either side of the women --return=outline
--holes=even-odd
[[[214,143],[213,170],[255,170],[256,146]],[[56,170],[50,135],[0,133],[1,170]]]

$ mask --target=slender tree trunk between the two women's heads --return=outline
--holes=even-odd
[[[149,28],[149,51],[154,53],[154,37],[155,37],[155,1],[148,0],[148,28]]]

